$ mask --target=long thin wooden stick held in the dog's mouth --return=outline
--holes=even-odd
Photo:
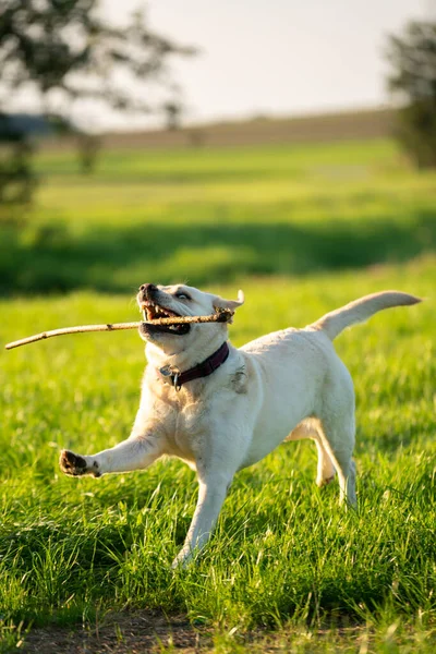
[[[171,318],[157,318],[155,320],[141,320],[140,323],[108,323],[107,325],[81,325],[78,327],[63,327],[62,329],[52,329],[51,331],[43,331],[27,338],[22,338],[17,341],[7,343],[7,350],[27,346],[36,341],[51,338],[52,336],[63,336],[64,334],[83,334],[85,331],[117,331],[118,329],[135,329],[142,324],[146,325],[186,325],[193,323],[227,323],[232,317],[233,312],[228,308],[217,310],[210,316],[173,316]]]

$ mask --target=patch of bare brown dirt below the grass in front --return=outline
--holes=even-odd
[[[148,654],[173,647],[183,654],[206,653],[211,639],[198,632],[184,616],[167,618],[160,611],[109,614],[86,629],[47,627],[32,630],[24,654]]]

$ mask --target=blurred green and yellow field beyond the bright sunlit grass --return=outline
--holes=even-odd
[[[434,173],[390,141],[44,153],[27,216],[0,221],[0,292],[131,292],[408,261],[436,244]]]

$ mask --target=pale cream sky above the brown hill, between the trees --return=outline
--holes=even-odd
[[[138,7],[154,31],[199,49],[171,60],[185,123],[384,106],[386,35],[411,19],[436,20],[436,0],[100,0],[118,25]],[[95,131],[164,123],[78,111]]]

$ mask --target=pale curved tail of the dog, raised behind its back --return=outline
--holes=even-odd
[[[421,302],[421,298],[401,293],[400,291],[383,291],[382,293],[373,293],[365,295],[346,306],[341,306],[336,311],[326,314],[316,323],[311,325],[312,328],[323,330],[330,340],[334,340],[343,329],[354,325],[354,323],[364,323],[371,316],[384,308],[391,306],[402,306],[408,304],[416,304]]]

